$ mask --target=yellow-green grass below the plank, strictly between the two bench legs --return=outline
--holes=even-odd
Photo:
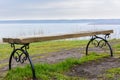
[[[72,48],[83,47],[87,40],[57,40],[30,44],[30,55],[68,50]]]

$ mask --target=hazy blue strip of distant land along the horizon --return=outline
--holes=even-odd
[[[79,19],[79,20],[0,20],[0,24],[38,23],[87,23],[90,25],[120,25],[120,19]]]

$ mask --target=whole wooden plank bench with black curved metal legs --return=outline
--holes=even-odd
[[[110,50],[110,56],[113,56],[113,51],[108,43],[107,38],[109,35],[113,33],[113,30],[101,30],[101,31],[86,31],[80,33],[72,33],[72,34],[63,34],[63,35],[53,35],[53,36],[38,36],[38,37],[23,37],[23,38],[3,38],[3,42],[7,42],[11,44],[13,51],[9,58],[9,70],[11,70],[11,62],[12,58],[16,60],[16,62],[24,63],[26,60],[29,60],[31,65],[31,70],[33,74],[33,80],[36,80],[34,65],[30,59],[28,49],[29,44],[34,42],[42,42],[42,41],[50,41],[50,40],[59,40],[59,39],[68,39],[68,38],[77,38],[77,37],[85,37],[92,36],[86,46],[86,55],[88,55],[88,48],[90,43],[93,43],[96,47],[108,46]],[[104,35],[104,37],[98,37],[98,35]],[[99,39],[97,43],[94,43],[94,40]],[[104,42],[104,43],[103,43]],[[16,48],[16,45],[21,45],[20,48]],[[17,56],[15,56],[15,54]],[[24,55],[24,57],[22,57]]]

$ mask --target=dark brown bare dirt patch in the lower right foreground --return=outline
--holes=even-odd
[[[102,58],[97,61],[75,65],[66,73],[66,75],[85,77],[88,80],[98,80],[98,78],[104,78],[103,74],[106,70],[118,67],[120,67],[120,58]]]

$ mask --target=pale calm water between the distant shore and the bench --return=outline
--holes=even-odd
[[[110,29],[114,30],[111,38],[120,38],[120,25],[88,25],[87,23],[0,24],[0,38]]]

